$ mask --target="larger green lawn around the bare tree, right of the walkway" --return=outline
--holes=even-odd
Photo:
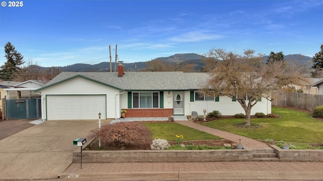
[[[252,139],[273,139],[299,143],[323,143],[323,122],[311,118],[311,114],[300,111],[272,107],[272,112],[281,118],[253,118],[251,122],[262,126],[258,129],[235,127],[234,124],[244,119],[221,119],[202,125]]]

